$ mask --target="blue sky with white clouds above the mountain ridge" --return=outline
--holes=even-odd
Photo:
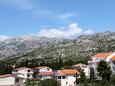
[[[115,31],[115,0],[0,0],[0,38]]]

